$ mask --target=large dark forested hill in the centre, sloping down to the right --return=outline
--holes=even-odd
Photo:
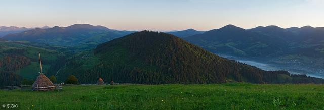
[[[74,57],[60,71],[59,79],[74,74],[80,83],[140,84],[225,83],[323,83],[323,79],[291,76],[287,71],[264,71],[221,58],[181,38],[162,32],[142,31],[100,44],[94,54]]]

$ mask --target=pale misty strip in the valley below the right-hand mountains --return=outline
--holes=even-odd
[[[322,69],[316,70],[314,72],[312,70],[307,69],[307,67],[267,64],[267,63],[261,63],[258,61],[242,59],[239,57],[228,56],[225,54],[217,54],[217,55],[220,57],[226,58],[226,59],[235,60],[235,61],[238,61],[238,62],[241,62],[244,64],[255,66],[255,67],[258,67],[258,68],[260,68],[262,70],[266,70],[266,71],[286,70],[293,74],[306,74],[307,76],[324,78],[324,70],[322,70]]]

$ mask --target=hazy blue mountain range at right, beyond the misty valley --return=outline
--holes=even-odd
[[[217,54],[254,59],[324,77],[324,28],[227,25],[184,38]]]

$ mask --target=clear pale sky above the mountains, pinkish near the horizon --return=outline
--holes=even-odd
[[[206,31],[324,27],[322,0],[10,0],[0,1],[0,26],[102,25],[117,30]]]

